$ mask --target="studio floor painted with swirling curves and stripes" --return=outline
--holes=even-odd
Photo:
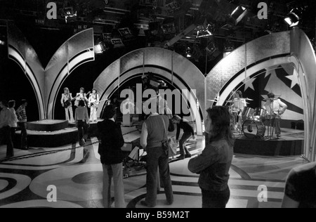
[[[6,149],[0,147],[0,207],[93,207],[102,204],[102,166],[96,138],[91,145],[69,145],[58,149],[15,150],[12,161],[1,162]],[[202,139],[190,145],[193,157],[202,152]],[[189,159],[171,161],[175,202],[171,208],[199,208],[202,203],[198,176],[187,170]],[[256,157],[235,155],[230,170],[229,208],[280,207],[285,179],[294,167],[304,164],[300,157]],[[48,202],[47,188],[55,185],[58,202]],[[124,179],[128,207],[141,207],[145,197],[145,172]],[[258,202],[258,187],[268,187],[268,202]],[[164,206],[163,192],[157,207]]]

